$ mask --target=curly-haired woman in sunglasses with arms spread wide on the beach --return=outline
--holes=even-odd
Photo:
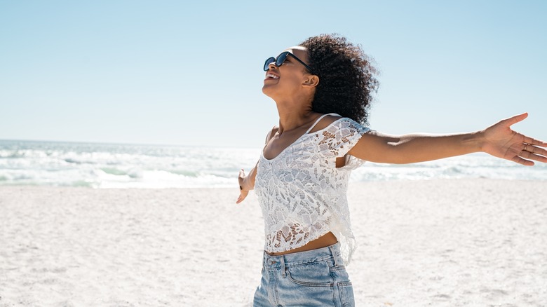
[[[266,243],[255,306],[353,306],[344,268],[355,248],[346,201],[351,170],[363,161],[416,163],[484,151],[522,165],[547,162],[547,143],[511,130],[513,116],[456,135],[385,135],[363,127],[375,70],[358,46],[321,35],[264,64],[262,92],[279,125],[255,168],[239,174],[241,203],[255,189]]]

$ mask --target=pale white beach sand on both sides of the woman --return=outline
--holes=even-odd
[[[0,306],[248,306],[236,189],[0,188]],[[350,185],[357,306],[547,306],[547,182]]]

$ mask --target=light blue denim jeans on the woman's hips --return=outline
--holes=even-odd
[[[339,243],[283,256],[264,252],[253,306],[355,306]]]

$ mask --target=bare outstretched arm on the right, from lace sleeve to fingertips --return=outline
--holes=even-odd
[[[528,114],[504,119],[485,130],[454,135],[363,135],[349,151],[351,156],[377,163],[415,163],[483,151],[522,165],[547,162],[546,142],[511,130]]]

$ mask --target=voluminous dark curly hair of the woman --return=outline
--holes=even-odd
[[[309,66],[319,76],[312,110],[368,125],[372,93],[379,85],[370,57],[338,34],[313,36],[299,45],[307,48]]]

